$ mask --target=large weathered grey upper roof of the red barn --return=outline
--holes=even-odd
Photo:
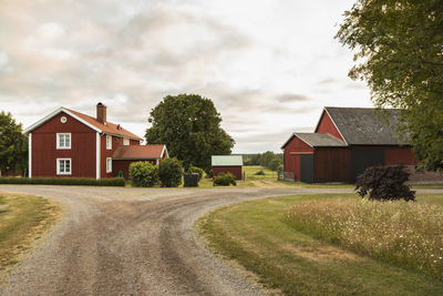
[[[378,113],[377,111],[372,108],[326,106],[323,113],[330,116],[349,145],[408,144],[399,140],[395,132],[400,110],[387,109],[383,110],[385,113]]]

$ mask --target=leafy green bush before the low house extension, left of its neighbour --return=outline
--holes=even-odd
[[[133,162],[130,165],[131,184],[134,187],[153,187],[158,185],[158,167],[148,162]]]

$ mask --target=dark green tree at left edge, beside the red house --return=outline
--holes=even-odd
[[[22,125],[17,124],[11,113],[0,113],[0,170],[16,171],[28,167],[28,137]]]

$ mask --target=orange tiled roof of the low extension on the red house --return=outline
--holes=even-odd
[[[161,160],[167,155],[166,145],[131,145],[120,146],[112,155],[113,160]]]

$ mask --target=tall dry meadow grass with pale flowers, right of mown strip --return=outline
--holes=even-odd
[[[306,201],[287,222],[356,253],[443,278],[443,206],[367,200]]]

